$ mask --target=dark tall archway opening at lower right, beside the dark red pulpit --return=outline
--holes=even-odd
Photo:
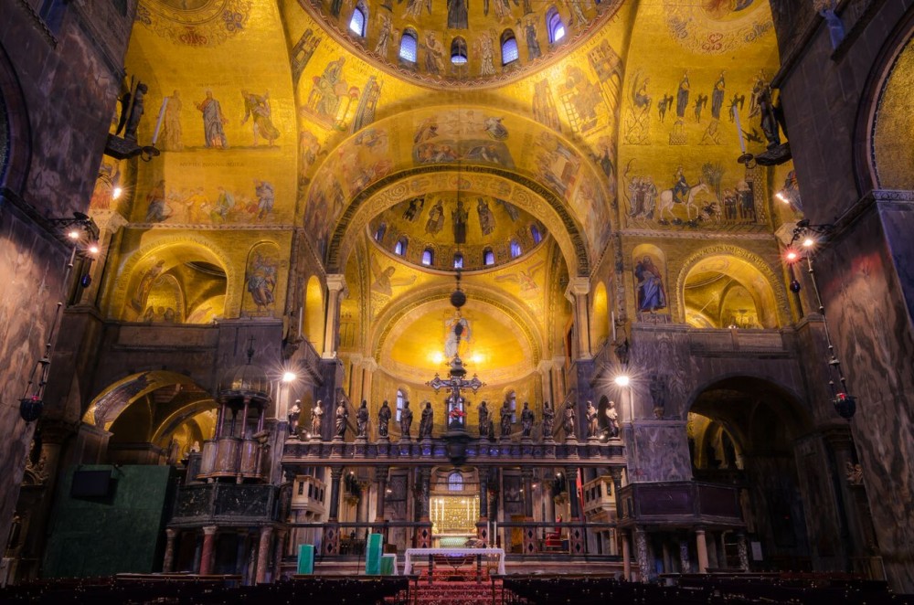
[[[702,390],[686,431],[697,481],[739,489],[753,569],[812,570],[807,517],[814,486],[797,466],[799,441],[811,428],[800,402],[773,383],[728,377]],[[717,536],[718,567],[738,567],[735,536]],[[732,559],[732,560],[731,560]]]

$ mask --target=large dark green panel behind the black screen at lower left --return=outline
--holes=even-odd
[[[112,472],[107,496],[70,495],[73,472]],[[58,485],[45,552],[45,578],[151,573],[162,568],[169,466],[81,465]]]

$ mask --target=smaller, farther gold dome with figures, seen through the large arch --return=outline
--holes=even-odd
[[[373,218],[368,228],[380,248],[410,264],[442,271],[504,265],[536,249],[547,234],[537,218],[510,202],[472,192],[461,192],[458,199],[454,191],[400,202]]]

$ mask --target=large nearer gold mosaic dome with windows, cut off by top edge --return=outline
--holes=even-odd
[[[390,73],[436,84],[502,82],[577,47],[622,0],[301,1],[329,33]]]

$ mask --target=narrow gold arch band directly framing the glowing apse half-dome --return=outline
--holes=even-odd
[[[529,313],[518,311],[516,305],[510,299],[499,296],[496,292],[489,292],[484,288],[469,283],[464,283],[462,290],[474,301],[492,306],[511,318],[530,344],[530,348],[533,351],[534,365],[539,363],[542,358],[543,346],[541,343],[543,339],[541,334],[535,334],[530,329],[531,325],[538,325],[535,317],[532,317]],[[413,309],[429,303],[447,300],[451,296],[451,292],[453,292],[451,284],[441,284],[433,288],[423,289],[416,295],[400,299],[396,305],[388,306],[373,322],[375,325],[381,326],[380,331],[376,329],[371,336],[373,355],[376,358],[381,355],[384,343],[390,336],[393,327]]]

